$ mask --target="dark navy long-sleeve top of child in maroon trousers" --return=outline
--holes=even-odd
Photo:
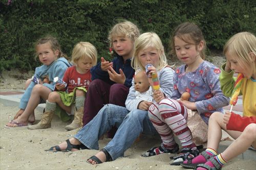
[[[113,62],[113,69],[117,72],[117,74],[120,74],[119,69],[121,68],[124,75],[125,75],[125,82],[124,85],[126,87],[132,86],[132,80],[135,73],[135,70],[131,66],[131,59],[127,59],[125,62],[121,56],[116,55],[116,57],[111,61]],[[101,69],[101,62],[99,62],[97,65],[93,66],[91,68],[91,74],[92,74],[92,80],[100,79],[103,80],[106,83],[109,84],[115,84],[116,82],[113,82],[110,80],[110,76],[108,74],[108,71],[103,71]]]

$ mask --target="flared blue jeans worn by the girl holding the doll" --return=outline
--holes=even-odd
[[[129,112],[125,107],[108,104],[101,108],[98,114],[78,131],[74,138],[89,149],[98,150],[99,137],[106,131],[111,130],[112,126],[116,126],[118,130],[114,138],[104,148],[113,160],[122,157],[140,133],[157,134],[148,118],[147,111],[136,109]]]

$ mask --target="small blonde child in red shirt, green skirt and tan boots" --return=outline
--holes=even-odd
[[[73,122],[65,129],[73,130],[82,126],[83,105],[89,84],[91,82],[90,69],[96,65],[97,50],[90,42],[79,42],[75,45],[72,52],[72,62],[74,66],[69,67],[63,77],[67,84],[56,84],[58,91],[49,94],[46,101],[45,113],[37,125],[29,126],[28,129],[46,129],[51,127],[51,120],[56,111],[56,104],[65,110],[61,112],[57,108],[57,115],[65,119],[68,115],[74,114]],[[72,105],[75,104],[72,113]]]

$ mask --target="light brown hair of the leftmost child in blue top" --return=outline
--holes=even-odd
[[[45,44],[45,43],[47,43],[47,42],[50,43],[51,50],[52,50],[53,52],[55,52],[56,50],[58,50],[59,54],[58,54],[57,58],[64,57],[64,58],[68,59],[68,56],[67,56],[66,54],[64,54],[64,53],[61,51],[58,40],[57,40],[55,37],[51,37],[51,36],[47,36],[47,37],[38,39],[38,40],[36,41],[36,43],[35,43],[35,51],[36,51],[37,45]],[[38,54],[37,54],[37,53],[35,54],[35,58],[36,58],[36,57],[38,57]]]

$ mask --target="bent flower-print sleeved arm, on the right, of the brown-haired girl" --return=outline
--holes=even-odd
[[[229,105],[229,98],[223,94],[220,88],[220,69],[210,64],[206,65],[203,70],[205,72],[202,74],[202,79],[205,88],[209,89],[209,93],[205,95],[205,100],[196,102],[198,112],[205,113]]]

